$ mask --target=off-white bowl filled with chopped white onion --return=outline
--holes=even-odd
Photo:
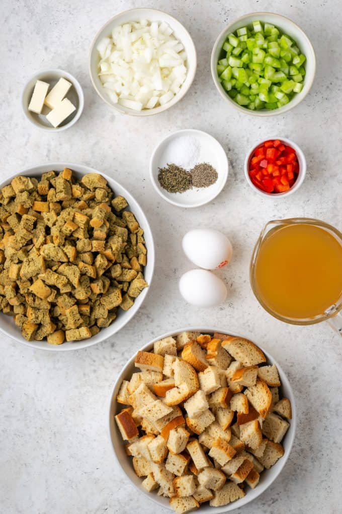
[[[130,9],[96,34],[89,71],[96,93],[123,114],[165,111],[189,90],[197,65],[189,32],[169,14]]]

